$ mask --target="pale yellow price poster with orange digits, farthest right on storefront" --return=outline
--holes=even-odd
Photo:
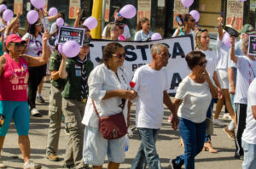
[[[226,24],[230,25],[232,15],[235,15],[236,17],[234,28],[236,31],[241,31],[243,21],[243,2],[240,2],[239,0],[228,0]]]

